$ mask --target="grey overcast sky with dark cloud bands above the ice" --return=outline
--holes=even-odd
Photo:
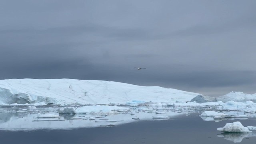
[[[0,79],[254,94],[255,6],[256,0],[1,0]]]

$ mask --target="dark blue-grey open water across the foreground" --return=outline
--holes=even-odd
[[[0,141],[2,144],[234,144],[234,141],[239,140],[242,140],[240,144],[256,143],[254,136],[221,134],[222,132],[216,130],[234,121],[240,121],[244,126],[256,126],[255,118],[214,122],[204,121],[198,115],[178,116],[169,120],[137,121],[113,127],[0,130]]]

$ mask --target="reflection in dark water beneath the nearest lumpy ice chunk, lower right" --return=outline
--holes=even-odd
[[[243,138],[247,137],[256,137],[256,133],[251,132],[251,133],[222,133],[222,134],[217,134],[218,137],[224,138],[226,140],[231,140],[235,143],[237,142],[242,142]]]

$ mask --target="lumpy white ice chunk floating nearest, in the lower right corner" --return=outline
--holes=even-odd
[[[244,127],[241,124],[241,122],[227,123],[223,128],[217,128],[217,130],[221,132],[240,132],[240,133],[252,132],[247,127]]]

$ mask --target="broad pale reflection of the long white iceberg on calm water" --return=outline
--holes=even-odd
[[[49,112],[59,115],[60,118],[38,118],[38,113],[34,113],[31,108],[28,112],[21,113],[1,113],[0,112],[0,130],[35,130],[35,129],[71,129],[71,128],[85,128],[98,126],[120,125],[130,122],[137,122],[137,120],[153,120],[153,116],[178,116],[176,112],[168,111],[165,114],[155,113],[156,107],[153,107],[154,112],[148,113],[139,111],[140,107],[130,107],[131,110],[127,112],[117,112],[115,114],[58,114],[56,110],[60,107],[54,108],[36,108],[44,117],[49,115]],[[166,107],[168,109],[169,107]],[[6,110],[13,110],[6,108]],[[131,114],[132,113],[132,114]],[[49,116],[46,116],[49,117]],[[94,117],[95,120],[90,120]],[[162,120],[162,119],[161,119]],[[166,120],[166,119],[163,119]]]

